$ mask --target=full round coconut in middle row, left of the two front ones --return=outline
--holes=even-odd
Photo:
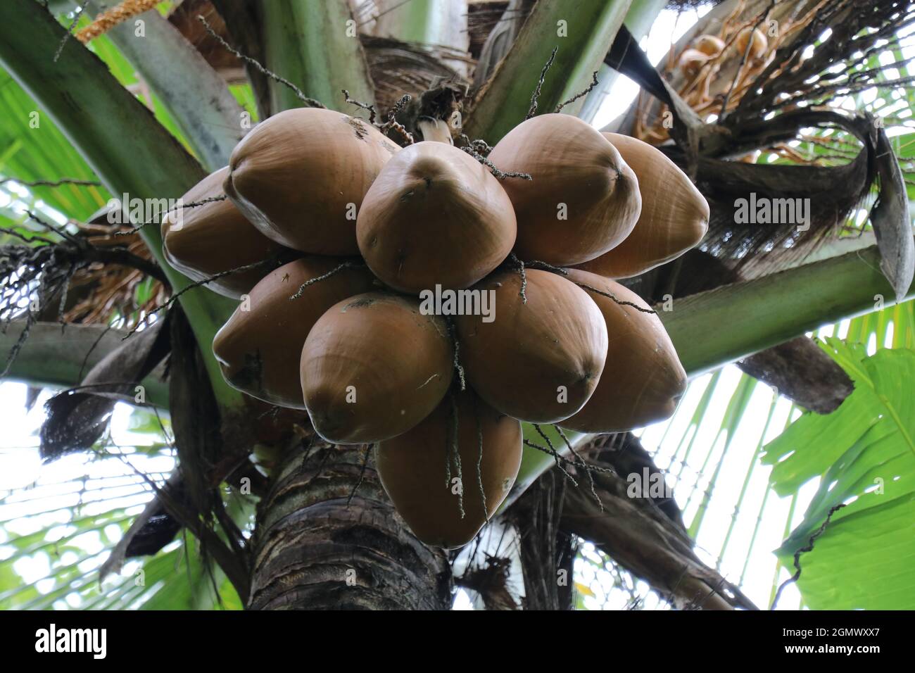
[[[388,440],[428,416],[454,373],[447,324],[415,299],[370,292],[321,316],[301,349],[311,423],[335,444]]]

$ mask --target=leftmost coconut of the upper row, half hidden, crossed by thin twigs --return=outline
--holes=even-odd
[[[222,196],[222,181],[228,174],[228,167],[210,173],[181,201],[196,203]],[[192,280],[264,262],[284,250],[260,233],[228,199],[168,212],[162,219],[162,242],[168,263]],[[240,271],[210,281],[206,287],[238,299],[267,271],[265,266]]]

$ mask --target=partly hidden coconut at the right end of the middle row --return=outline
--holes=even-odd
[[[608,278],[569,269],[568,278],[641,309],[639,295]],[[562,425],[582,432],[622,432],[670,418],[686,390],[686,373],[658,316],[585,288],[612,335],[607,364],[597,389],[575,416]]]

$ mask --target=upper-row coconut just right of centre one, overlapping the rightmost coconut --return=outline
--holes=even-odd
[[[597,129],[569,114],[515,126],[489,156],[507,178],[518,218],[517,254],[557,266],[587,262],[622,243],[639,219],[639,181]]]

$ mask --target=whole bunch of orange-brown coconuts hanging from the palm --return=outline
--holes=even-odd
[[[673,344],[613,278],[682,255],[708,221],[659,150],[573,116],[523,122],[489,159],[531,179],[288,110],[162,225],[174,266],[241,299],[213,342],[226,380],[307,409],[329,442],[376,444],[393,505],[446,547],[509,493],[520,421],[614,432],[673,413],[686,383]],[[436,315],[420,301],[436,286],[487,293],[489,314]]]

